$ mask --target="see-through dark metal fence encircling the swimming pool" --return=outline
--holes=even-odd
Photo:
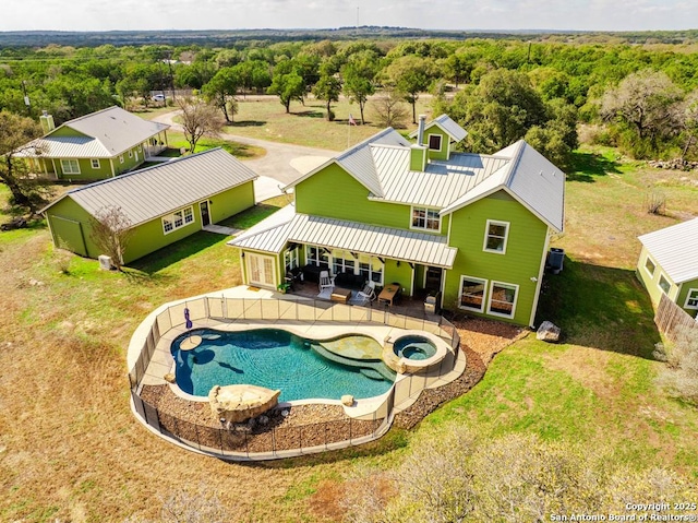
[[[303,426],[266,424],[210,427],[177,418],[145,401],[141,383],[160,337],[185,322],[184,309],[196,323],[203,319],[234,321],[308,321],[382,323],[406,330],[430,332],[446,342],[452,350],[438,366],[422,372],[401,376],[373,414],[361,419],[342,418]],[[139,416],[159,433],[204,452],[231,459],[270,459],[277,454],[299,455],[323,449],[358,444],[381,437],[389,428],[395,405],[419,395],[430,384],[450,372],[458,358],[460,336],[456,328],[440,317],[438,322],[407,314],[395,314],[369,307],[334,304],[312,299],[248,299],[203,297],[169,306],[155,316],[147,330],[135,365],[129,371],[131,397]],[[158,378],[161,378],[159,376]],[[260,455],[263,454],[263,455]]]

